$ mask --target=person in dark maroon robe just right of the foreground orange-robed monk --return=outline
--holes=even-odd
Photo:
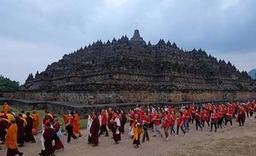
[[[21,119],[22,114],[19,114],[16,117],[16,124],[18,127],[18,132],[17,132],[17,143],[19,144],[19,147],[23,147],[25,143],[25,127],[24,127],[24,121]]]

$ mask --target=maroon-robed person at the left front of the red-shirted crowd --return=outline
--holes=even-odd
[[[100,121],[96,112],[92,112],[92,126],[90,128],[90,135],[92,140],[92,146],[98,145],[98,134],[100,131]]]

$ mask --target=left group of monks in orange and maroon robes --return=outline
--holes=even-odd
[[[64,122],[68,135],[66,145],[69,144],[71,137],[78,141],[78,138],[82,136],[79,131],[78,113],[74,111],[70,112],[69,115],[64,115]],[[21,111],[21,113],[15,114],[12,109],[9,109],[8,104],[4,103],[0,113],[0,143],[7,146],[7,156],[21,156],[23,153],[18,150],[18,147],[21,148],[25,144],[36,143],[34,135],[37,135],[40,123],[42,131],[39,154],[54,156],[55,151],[64,149],[64,145],[59,139],[62,131],[58,116],[55,113],[45,111],[45,116],[40,122],[40,116],[37,112],[31,114],[30,112]],[[78,134],[78,136],[75,134]]]

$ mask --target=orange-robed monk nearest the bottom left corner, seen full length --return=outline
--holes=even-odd
[[[12,118],[11,126],[7,130],[6,145],[7,145],[7,156],[15,156],[17,154],[19,156],[23,155],[23,153],[21,153],[17,149],[17,125],[15,123],[14,118]]]

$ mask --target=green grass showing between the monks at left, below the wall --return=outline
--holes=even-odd
[[[12,111],[16,115],[18,115],[21,112],[21,110],[18,110],[17,108],[13,108],[12,106],[9,106],[9,108],[12,109]],[[0,105],[0,109],[2,111],[2,105]],[[45,116],[45,110],[30,110],[30,111],[26,111],[26,112],[30,112],[32,114],[32,112],[34,112],[34,111],[36,111],[39,114],[40,122],[41,122],[43,117]],[[62,129],[62,131],[64,131],[64,120],[62,118],[62,115],[58,115],[58,117],[59,117],[59,124],[63,125],[61,129]],[[80,129],[85,129],[87,126],[87,122],[88,122],[88,119],[80,119]],[[41,130],[41,128],[42,127],[39,126],[39,131]]]

